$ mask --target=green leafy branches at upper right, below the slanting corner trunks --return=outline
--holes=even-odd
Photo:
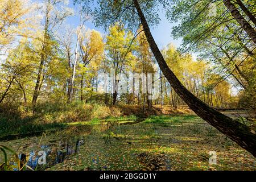
[[[253,63],[251,60],[255,59],[256,47],[224,3],[213,2],[216,6],[216,14],[213,16],[209,14],[211,2],[208,0],[171,2],[172,6],[166,6],[167,18],[171,22],[180,20],[179,25],[172,28],[172,34],[175,38],[183,38],[181,50],[195,52],[201,59],[212,63],[212,71],[221,76],[216,80],[216,85],[232,80],[233,86],[252,96],[249,93],[254,92],[247,88],[253,88],[251,85],[254,81],[250,78],[255,75],[255,61]],[[253,3],[246,3],[252,10]]]

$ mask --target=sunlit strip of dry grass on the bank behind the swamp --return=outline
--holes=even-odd
[[[0,136],[9,134],[27,134],[37,131],[63,127],[63,123],[84,122],[92,119],[111,117],[148,117],[163,114],[191,114],[187,107],[173,109],[171,106],[154,105],[151,109],[142,105],[105,106],[84,104],[81,102],[38,104],[34,111],[30,106],[2,105],[0,107]]]

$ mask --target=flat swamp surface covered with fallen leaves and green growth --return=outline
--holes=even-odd
[[[73,123],[58,133],[0,142],[47,170],[255,170],[256,159],[191,114]],[[122,124],[121,124],[122,123]],[[47,165],[35,162],[39,150]],[[217,164],[209,164],[216,151]],[[1,160],[0,160],[1,163]]]

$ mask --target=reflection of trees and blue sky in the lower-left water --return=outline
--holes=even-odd
[[[19,150],[17,151],[20,160],[20,166],[26,167],[23,170],[44,170],[62,163],[68,155],[76,154],[79,148],[84,144],[84,138],[92,131],[91,126],[69,127],[63,131],[56,131],[55,134],[44,134],[41,137],[30,137],[19,139]],[[5,142],[6,145],[13,143],[14,140]],[[42,161],[42,154],[45,156],[46,163]],[[1,163],[1,161],[0,161]],[[13,160],[10,166],[18,170],[18,165]]]

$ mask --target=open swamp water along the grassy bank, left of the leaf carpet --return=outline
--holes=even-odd
[[[119,121],[120,125],[131,125],[142,122],[143,119]],[[126,120],[127,121],[127,120]],[[56,164],[62,163],[67,156],[78,154],[80,146],[86,144],[88,135],[102,133],[118,125],[117,122],[102,122],[100,124],[86,124],[69,126],[67,129],[48,131],[46,133],[34,133],[26,135],[10,135],[0,138],[0,145],[11,148],[20,160],[20,164],[26,164],[24,170],[45,170]],[[108,131],[107,131],[108,133]],[[102,138],[106,140],[106,138]],[[106,142],[106,141],[105,141]],[[11,169],[18,170],[14,156],[7,151],[7,158]],[[0,167],[5,163],[3,155],[0,155]]]

